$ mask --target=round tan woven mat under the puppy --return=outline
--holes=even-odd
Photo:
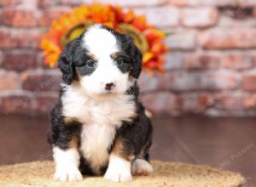
[[[102,177],[84,177],[80,182],[60,183],[53,178],[53,161],[34,161],[0,167],[0,186],[173,186],[238,187],[245,183],[239,173],[184,163],[152,161],[154,173],[133,177],[129,183],[108,182]]]

